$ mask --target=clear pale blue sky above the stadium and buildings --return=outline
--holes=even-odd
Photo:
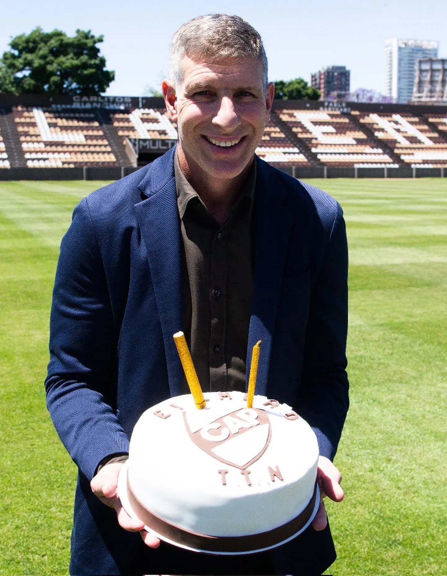
[[[169,41],[183,22],[200,14],[238,14],[263,38],[272,81],[301,77],[323,66],[351,71],[351,92],[385,92],[385,40],[437,40],[447,58],[447,0],[0,0],[0,55],[10,40],[36,26],[73,36],[103,35],[107,69],[115,71],[109,96],[142,96],[160,89],[169,70]]]

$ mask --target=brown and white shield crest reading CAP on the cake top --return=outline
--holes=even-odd
[[[202,411],[203,414],[204,411]],[[183,412],[191,441],[217,460],[245,470],[266,451],[271,438],[268,414],[260,408],[243,408],[228,412],[213,421],[189,419]],[[191,412],[190,412],[191,414]]]

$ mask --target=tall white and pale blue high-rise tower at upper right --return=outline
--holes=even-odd
[[[385,42],[385,94],[396,102],[407,103],[413,94],[415,66],[419,58],[437,58],[438,43],[433,40],[403,40]]]

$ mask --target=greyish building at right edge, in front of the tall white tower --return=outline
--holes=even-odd
[[[415,103],[447,103],[447,58],[421,58],[416,63]]]

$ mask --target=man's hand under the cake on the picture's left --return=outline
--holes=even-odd
[[[121,505],[116,488],[122,467],[123,463],[121,462],[106,464],[100,469],[97,475],[94,476],[92,482],[90,482],[90,488],[92,488],[93,494],[97,496],[101,502],[116,510],[118,524],[121,528],[128,530],[128,532],[139,532],[144,543],[149,546],[149,548],[158,548],[158,546],[160,546],[160,540],[144,529],[145,525],[143,522],[131,518]]]

